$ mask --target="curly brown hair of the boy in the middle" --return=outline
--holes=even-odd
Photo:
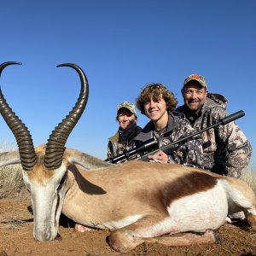
[[[144,104],[150,102],[151,97],[154,102],[158,102],[163,98],[166,101],[168,113],[171,113],[177,106],[177,98],[172,91],[168,90],[164,84],[152,83],[147,84],[136,99],[136,106],[141,113],[145,114]]]

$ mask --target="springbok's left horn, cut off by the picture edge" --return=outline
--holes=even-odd
[[[0,76],[4,67],[9,65],[18,64],[20,62],[8,61],[0,65]],[[9,126],[9,129],[15,135],[16,142],[18,144],[20,153],[20,162],[24,170],[32,170],[32,167],[36,164],[38,157],[35,153],[35,149],[32,142],[30,132],[27,130],[26,125],[15,115],[13,110],[9,108],[9,104],[3,97],[2,90],[0,88],[0,112],[3,115],[3,119]]]

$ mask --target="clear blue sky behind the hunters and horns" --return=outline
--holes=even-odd
[[[0,62],[22,66],[3,71],[1,88],[37,146],[79,96],[78,74],[56,65],[82,67],[89,101],[66,145],[105,159],[120,102],[160,82],[181,105],[183,80],[200,73],[210,92],[228,98],[229,113],[245,111],[236,123],[255,148],[255,9],[253,0],[2,1]],[[138,113],[138,124],[147,122]],[[0,131],[0,143],[15,144],[2,117]]]

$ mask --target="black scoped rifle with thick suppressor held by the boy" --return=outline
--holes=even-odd
[[[183,137],[173,143],[169,143],[167,144],[166,146],[163,146],[161,148],[157,148],[155,149],[154,151],[151,151],[151,152],[148,152],[146,154],[143,154],[143,155],[140,155],[140,153],[143,153],[145,151],[147,151],[149,148],[152,148],[154,145],[158,144],[158,142],[156,140],[154,140],[154,138],[146,141],[145,143],[142,143],[141,145],[139,145],[137,148],[133,148],[131,150],[127,150],[124,152],[124,154],[119,154],[117,155],[116,157],[113,157],[113,158],[110,158],[110,159],[107,159],[105,161],[108,161],[108,163],[113,163],[113,164],[116,164],[116,163],[120,163],[120,162],[124,162],[125,160],[143,160],[143,161],[147,161],[148,160],[148,155],[151,155],[151,154],[155,154],[157,153],[158,151],[163,151],[164,153],[167,153],[167,152],[170,152],[172,150],[174,150],[178,143],[182,143],[182,142],[185,142],[187,141],[190,137],[194,137],[204,131],[207,131],[207,130],[210,130],[218,125],[226,125],[236,119],[240,119],[241,117],[243,117],[245,115],[245,113],[240,110],[236,113],[232,113],[226,117],[224,117],[223,119],[220,119],[216,124],[213,124],[213,125],[210,125],[200,131],[195,131],[194,133],[186,136],[186,137]]]

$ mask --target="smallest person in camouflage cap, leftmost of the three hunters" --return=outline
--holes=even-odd
[[[122,102],[117,108],[116,120],[119,130],[108,138],[108,158],[123,154],[125,150],[133,148],[133,139],[142,130],[137,125],[137,113],[134,104]]]

